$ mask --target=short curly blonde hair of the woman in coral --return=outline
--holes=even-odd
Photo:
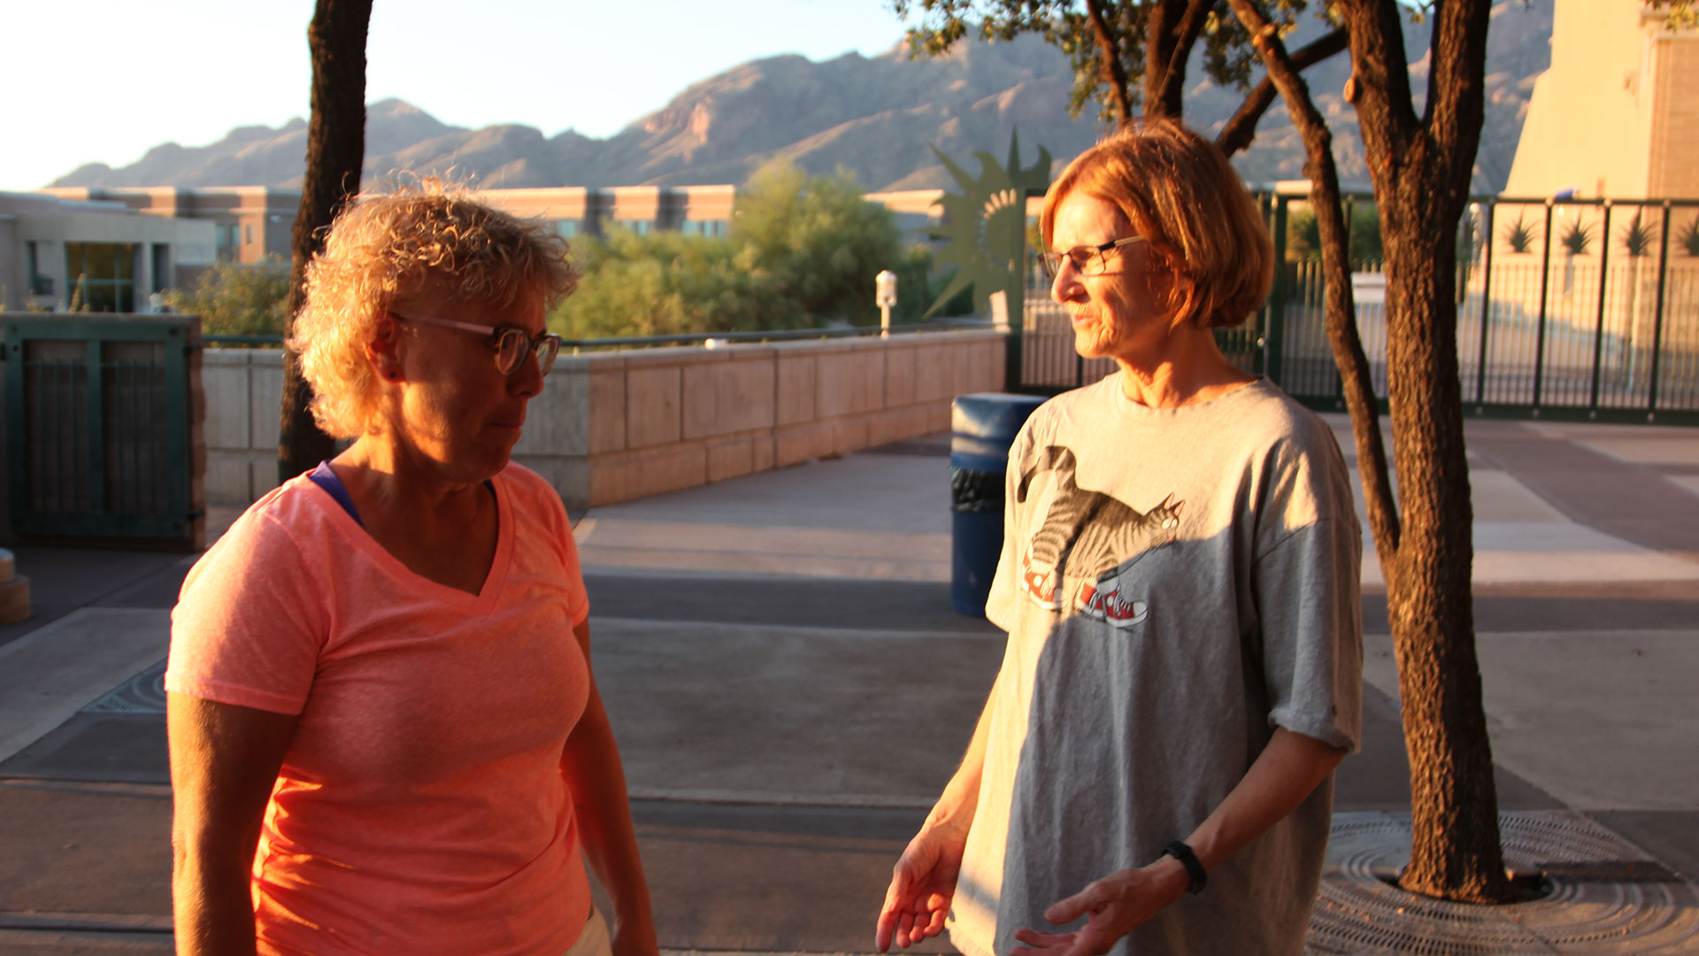
[[[540,294],[545,306],[578,284],[566,240],[542,221],[520,219],[438,180],[350,202],[306,270],[306,304],[285,347],[301,356],[313,386],[313,418],[348,439],[377,408],[377,374],[365,344],[403,296],[513,304]]]

